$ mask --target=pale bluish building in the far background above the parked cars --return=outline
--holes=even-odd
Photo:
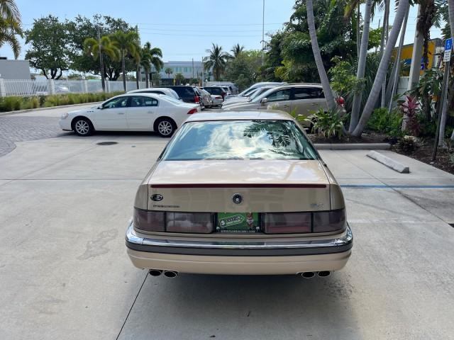
[[[166,69],[170,69],[170,74],[165,73]],[[155,67],[151,67],[151,73],[156,73]],[[182,84],[191,83],[192,79],[208,79],[211,73],[204,71],[204,64],[202,62],[165,62],[164,67],[159,72],[162,85],[173,85],[175,82],[175,74],[181,73],[184,77]],[[141,71],[140,80],[145,80],[145,72]],[[151,79],[151,76],[150,76]]]

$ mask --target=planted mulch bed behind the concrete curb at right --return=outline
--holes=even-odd
[[[404,152],[396,144],[396,139],[390,139],[387,135],[382,135],[376,132],[366,131],[361,137],[343,136],[338,138],[325,138],[321,135],[309,134],[309,138],[313,143],[390,143],[391,149],[399,154],[419,160],[420,162],[435,166],[438,169],[454,174],[454,163],[450,161],[450,155],[454,154],[454,149],[450,150],[438,147],[436,161],[432,162],[433,138],[420,139],[418,146],[414,151]]]

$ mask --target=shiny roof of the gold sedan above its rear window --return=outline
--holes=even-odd
[[[232,110],[210,111],[194,113],[186,121],[197,122],[204,120],[293,120],[292,116],[284,111],[277,110]]]

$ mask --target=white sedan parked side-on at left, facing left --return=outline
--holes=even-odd
[[[94,131],[155,131],[170,137],[199,104],[183,103],[160,94],[123,94],[99,106],[70,111],[60,118],[60,127],[79,136]]]

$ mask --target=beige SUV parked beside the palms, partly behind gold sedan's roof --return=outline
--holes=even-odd
[[[309,116],[319,108],[328,109],[321,84],[286,84],[269,89],[247,102],[233,103],[223,110],[245,110],[272,107],[297,115]],[[340,110],[345,110],[339,106]]]

